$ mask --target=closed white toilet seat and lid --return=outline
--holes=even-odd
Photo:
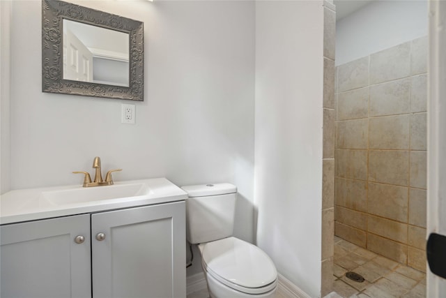
[[[203,269],[229,288],[262,294],[277,286],[277,271],[260,248],[229,237],[200,244]]]

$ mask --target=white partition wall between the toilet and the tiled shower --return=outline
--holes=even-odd
[[[256,2],[256,243],[321,292],[323,1]]]

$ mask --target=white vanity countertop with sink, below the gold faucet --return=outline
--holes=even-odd
[[[67,202],[63,204],[52,204],[43,195],[68,191],[70,193],[81,193],[93,188],[108,188],[107,192],[116,190],[125,185],[141,184],[145,188],[136,195],[125,198],[113,198],[107,200],[94,200],[87,202]],[[74,214],[84,214],[111,209],[122,209],[128,207],[138,207],[148,204],[162,204],[167,202],[177,202],[185,200],[187,193],[181,188],[171,183],[166,178],[142,179],[133,181],[115,181],[112,186],[95,186],[93,188],[83,188],[82,186],[56,186],[47,188],[29,188],[10,191],[0,195],[0,224],[19,223],[22,221],[34,221],[43,218],[53,218],[69,216]],[[54,196],[54,195],[53,195]],[[52,202],[57,199],[52,198]]]

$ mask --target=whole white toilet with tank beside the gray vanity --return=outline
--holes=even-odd
[[[237,188],[232,184],[183,186],[186,238],[199,244],[201,266],[212,298],[272,298],[277,271],[260,248],[231,237]]]

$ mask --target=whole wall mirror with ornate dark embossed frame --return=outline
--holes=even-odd
[[[144,100],[143,23],[42,1],[42,91]]]

